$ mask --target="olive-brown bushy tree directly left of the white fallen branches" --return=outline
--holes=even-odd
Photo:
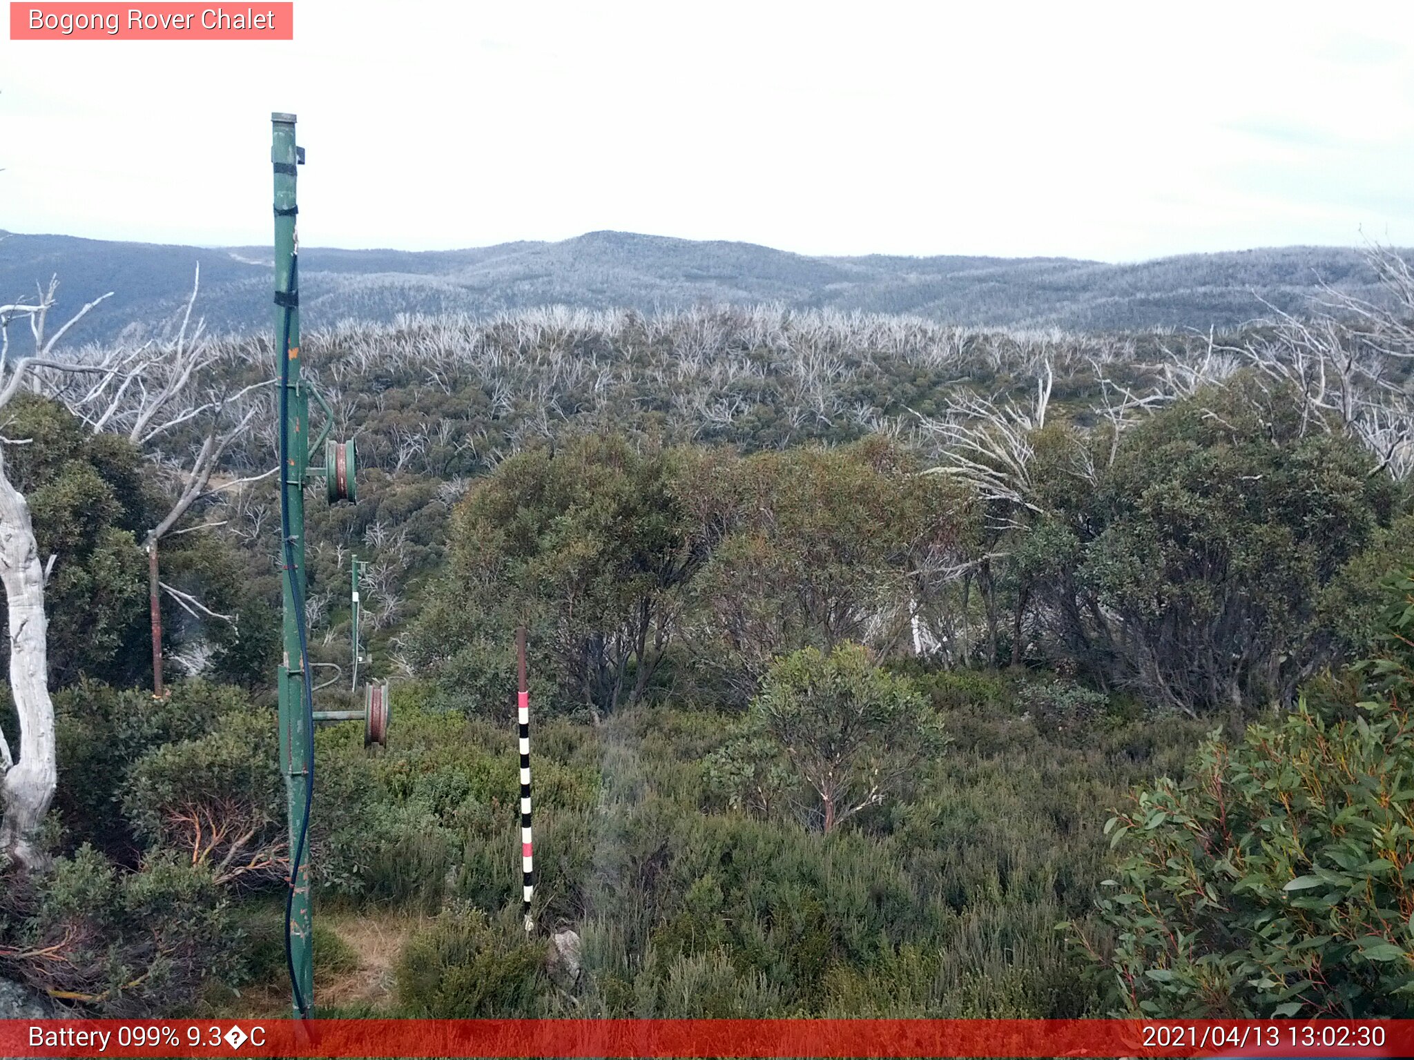
[[[971,507],[947,476],[918,471],[918,454],[882,434],[731,468],[718,486],[730,533],[693,584],[693,664],[708,688],[745,705],[778,656],[896,639],[928,592],[913,571],[959,546]]]

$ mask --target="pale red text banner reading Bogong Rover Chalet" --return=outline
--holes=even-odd
[[[294,3],[10,3],[11,41],[293,41]]]

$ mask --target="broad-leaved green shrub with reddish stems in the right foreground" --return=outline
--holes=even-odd
[[[1106,825],[1121,851],[1090,947],[1143,1016],[1414,1015],[1414,581],[1386,652],[1342,687],[1209,739]],[[1089,946],[1083,941],[1082,944]]]

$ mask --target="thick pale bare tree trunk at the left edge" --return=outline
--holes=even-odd
[[[20,760],[0,734],[4,818],[0,851],[25,868],[44,861],[33,845],[58,779],[54,759],[54,704],[49,701],[44,570],[34,540],[30,506],[6,478],[0,454],[0,581],[10,630],[10,693],[20,715]]]

